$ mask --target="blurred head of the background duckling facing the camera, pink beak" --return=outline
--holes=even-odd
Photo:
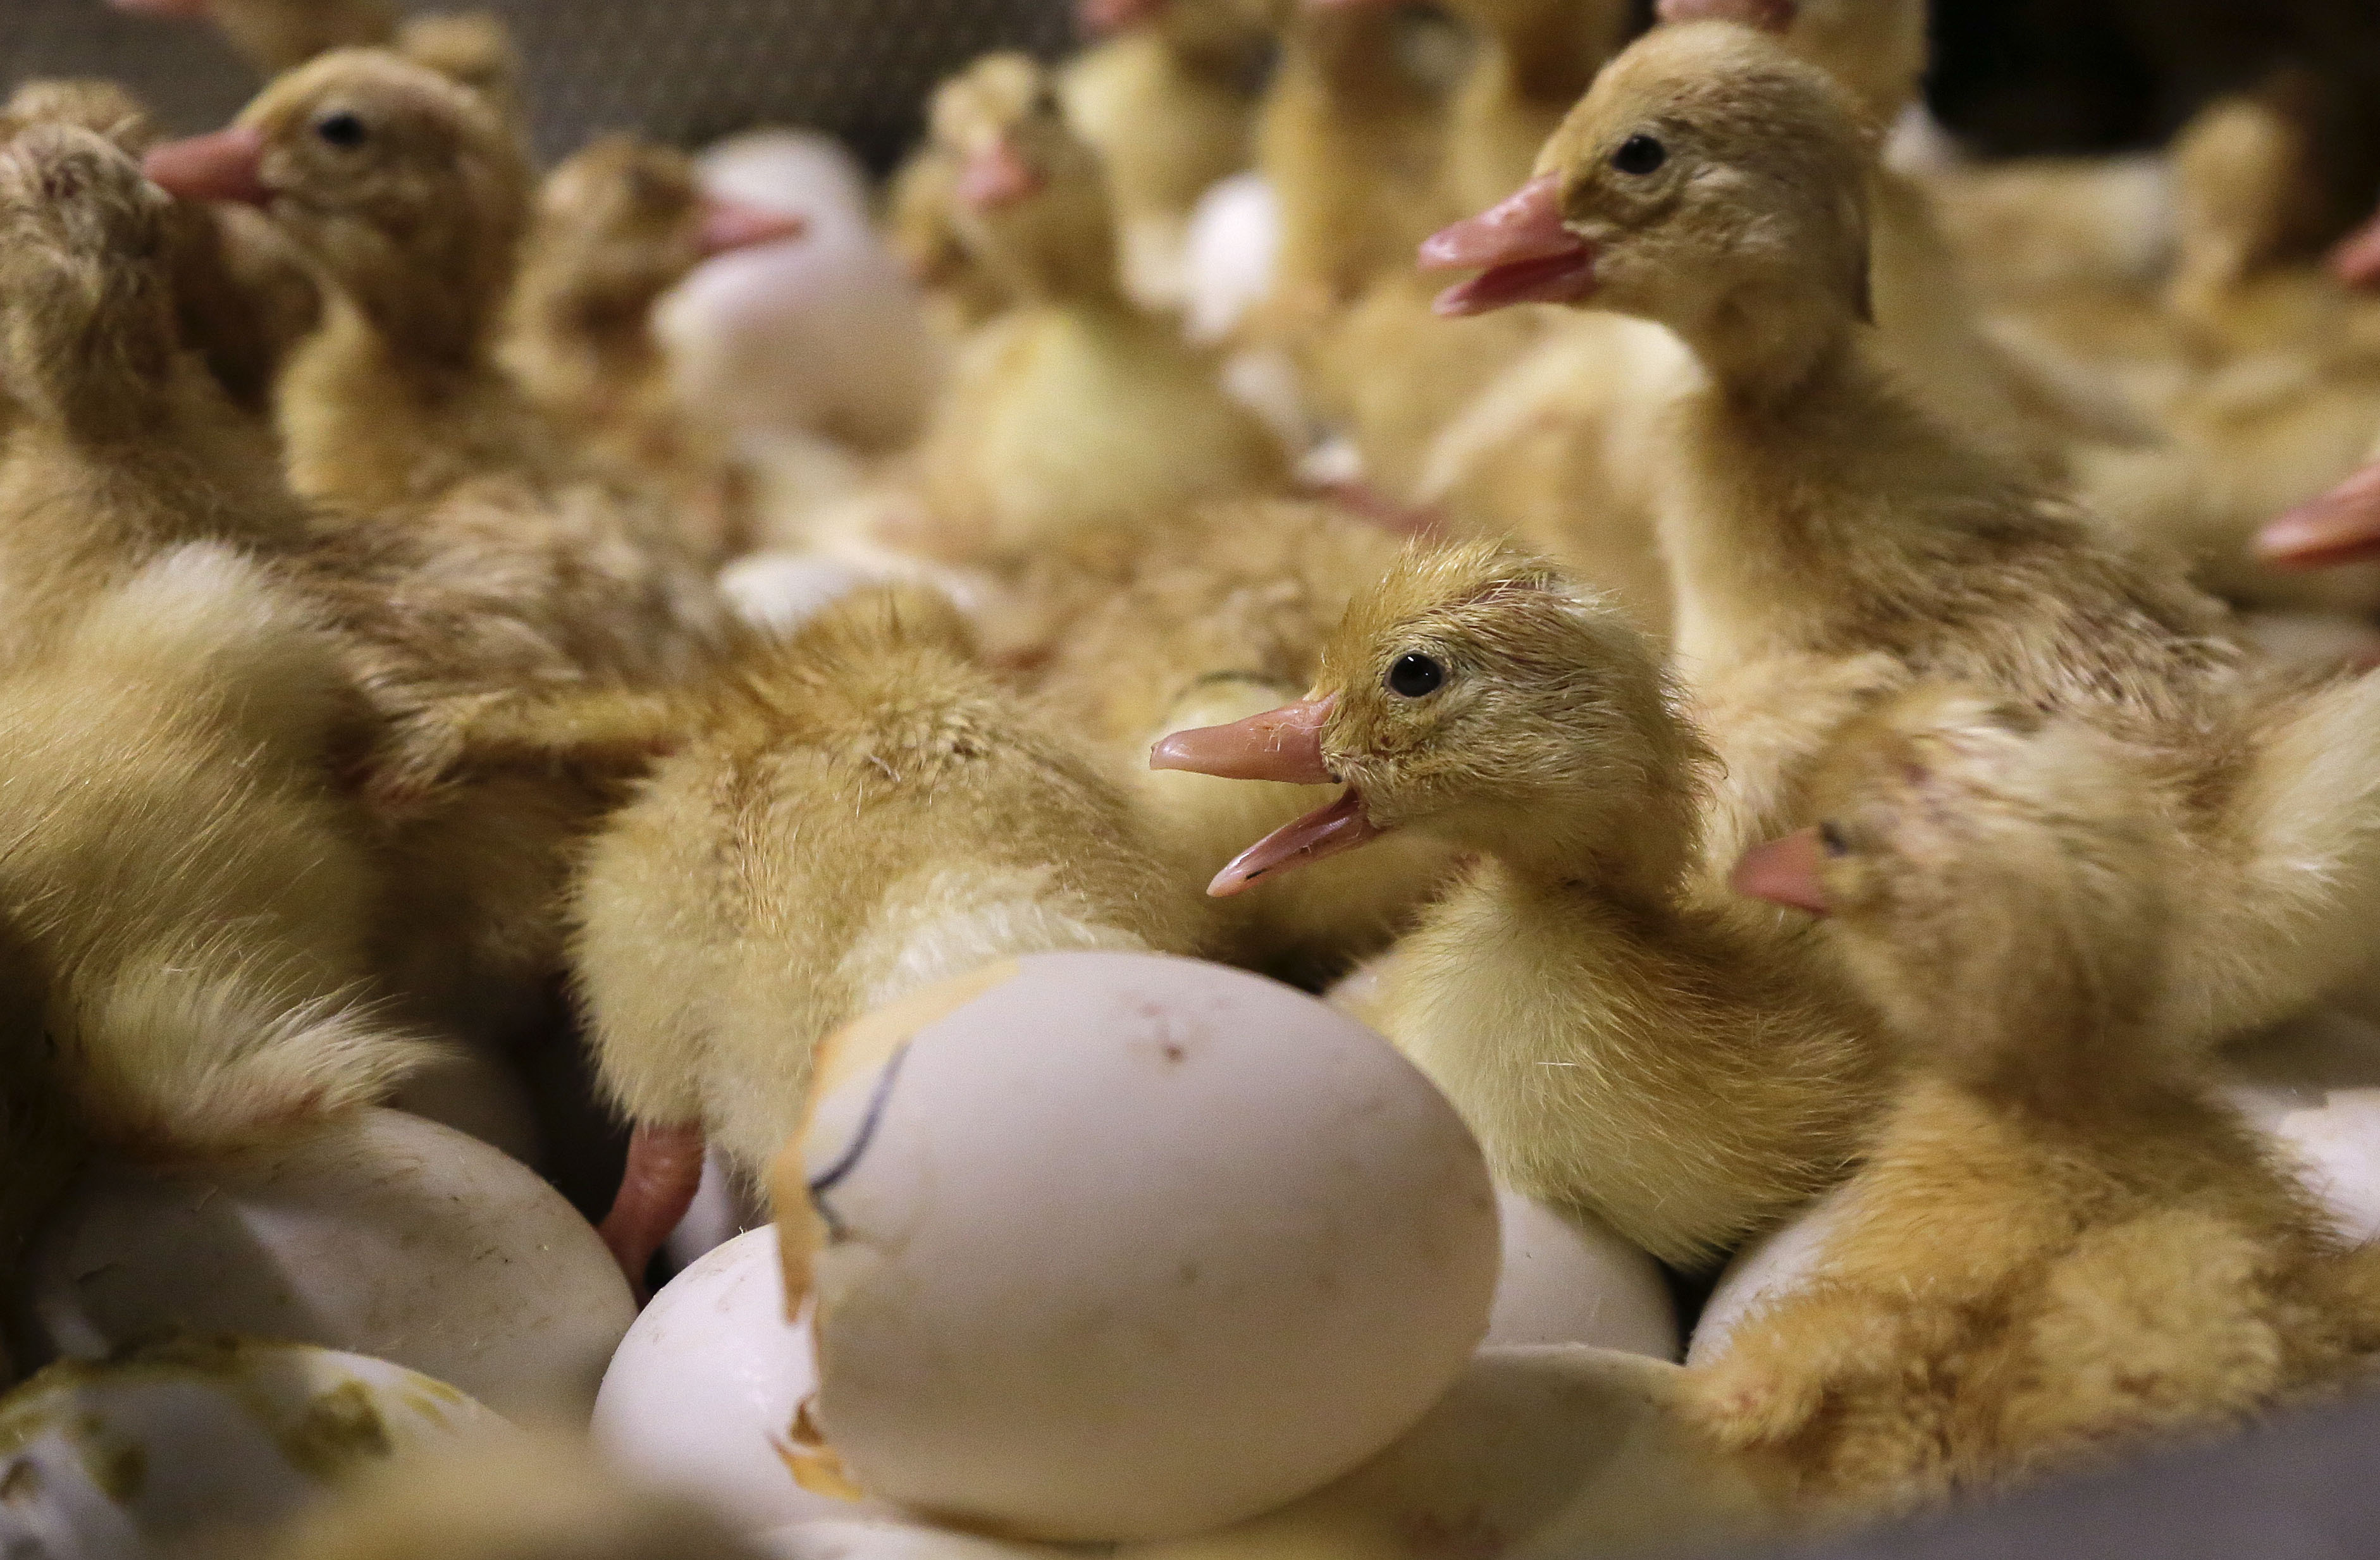
[[[1066,126],[1057,83],[1028,55],[988,55],[933,98],[952,159],[952,228],[1016,295],[1111,295],[1114,212],[1100,155]]]

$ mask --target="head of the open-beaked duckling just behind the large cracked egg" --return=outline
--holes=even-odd
[[[1150,761],[1345,785],[1223,868],[1216,897],[1411,828],[1659,899],[1692,851],[1706,759],[1618,611],[1542,559],[1464,545],[1409,552],[1359,597],[1311,694],[1176,732]]]

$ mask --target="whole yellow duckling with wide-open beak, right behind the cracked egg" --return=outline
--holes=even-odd
[[[1695,1268],[1849,1165],[1875,1049],[1795,958],[1687,901],[1711,754],[1642,635],[1549,564],[1416,552],[1307,699],[1152,761],[1345,785],[1214,894],[1402,830],[1480,858],[1368,1015],[1511,1189]]]

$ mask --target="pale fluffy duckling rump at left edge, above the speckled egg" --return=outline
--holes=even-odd
[[[100,1144],[236,1149],[424,1058],[371,1011],[378,882],[328,782],[359,721],[314,614],[219,542],[0,678],[12,1023]]]

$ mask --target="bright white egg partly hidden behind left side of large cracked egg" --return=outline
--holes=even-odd
[[[795,1479],[788,1432],[816,1384],[809,1327],[785,1317],[776,1229],[752,1229],[635,1317],[595,1398],[595,1446],[645,1484],[700,1496],[752,1531],[895,1515]]]

